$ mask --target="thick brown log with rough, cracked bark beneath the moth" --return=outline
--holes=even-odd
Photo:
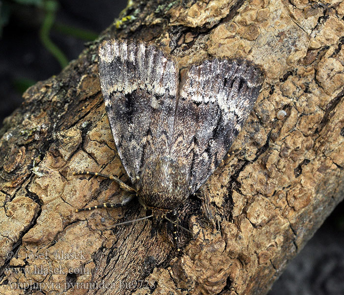
[[[126,15],[5,119],[0,294],[266,294],[343,199],[344,3],[134,0]],[[148,220],[113,227],[143,216],[139,204],[75,212],[122,192],[74,171],[128,180],[97,77],[97,47],[110,37],[153,41],[181,68],[241,57],[266,72],[232,147],[242,149],[207,183],[219,229],[204,226],[202,196],[191,197],[182,224],[207,242],[180,231],[178,255]]]

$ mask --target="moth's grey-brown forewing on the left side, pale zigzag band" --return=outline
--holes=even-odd
[[[168,150],[178,72],[154,45],[115,39],[99,46],[98,72],[115,146],[135,184],[146,163]]]

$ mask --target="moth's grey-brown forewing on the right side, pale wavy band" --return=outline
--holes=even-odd
[[[198,190],[228,152],[251,113],[263,82],[262,71],[240,59],[204,60],[181,75],[172,157]]]

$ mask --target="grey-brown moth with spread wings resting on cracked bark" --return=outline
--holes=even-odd
[[[206,59],[179,69],[153,44],[104,41],[98,71],[105,110],[121,163],[131,185],[121,207],[138,198],[160,228],[211,176],[251,113],[264,80],[244,59]],[[173,231],[176,240],[176,231]],[[179,249],[178,249],[179,251]]]

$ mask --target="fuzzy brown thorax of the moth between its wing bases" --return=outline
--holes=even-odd
[[[172,210],[189,196],[188,174],[169,156],[147,162],[140,180],[139,198],[152,210]]]

